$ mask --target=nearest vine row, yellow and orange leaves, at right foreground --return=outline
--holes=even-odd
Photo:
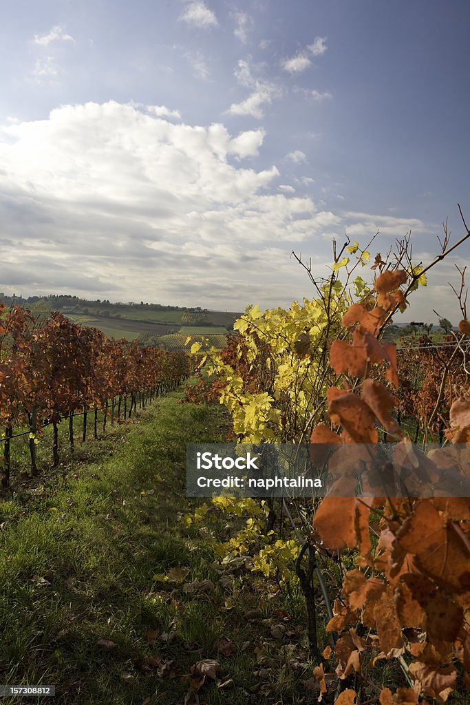
[[[299,259],[316,298],[288,310],[248,307],[221,352],[192,345],[199,382],[187,388],[187,400],[218,398],[232,416],[232,439],[310,442],[316,462],[324,443],[338,447],[323,500],[214,496],[211,507],[204,503],[184,521],[204,525],[223,563],[242,560],[281,589],[299,587],[321,697],[341,705],[442,703],[452,695],[468,701],[470,500],[433,493],[447,472],[454,472],[456,489],[469,486],[465,269],[456,290],[457,333],[439,344],[423,336],[399,354],[383,339],[392,314],[426,286],[428,270],[468,238],[466,227],[451,247],[445,232],[442,252],[427,266],[412,264],[405,238],[393,256],[376,256],[372,285],[354,276],[370,259],[358,243],[334,252],[332,274],[321,281]],[[378,484],[354,496],[350,459],[369,467],[365,450],[379,440],[396,443],[394,459],[407,482],[424,480],[431,498],[387,496],[386,467]],[[412,441],[447,445],[431,458],[416,455]],[[334,693],[332,670],[339,679]]]

